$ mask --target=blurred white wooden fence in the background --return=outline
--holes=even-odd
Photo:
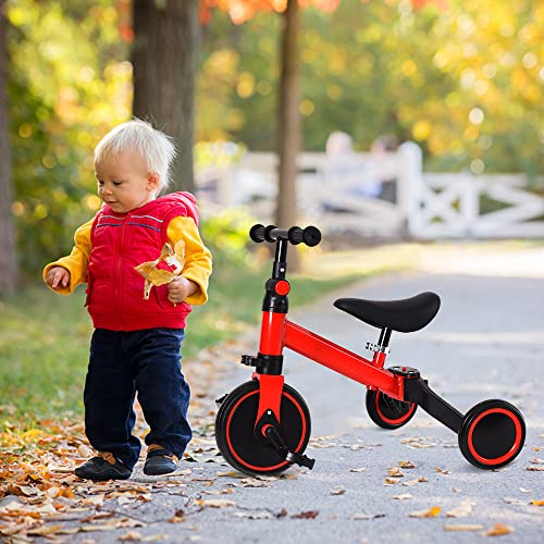
[[[274,153],[249,152],[234,165],[197,171],[199,197],[207,209],[245,206],[273,222],[276,165]],[[305,152],[298,170],[298,221],[327,234],[544,237],[544,198],[527,190],[526,176],[424,173],[413,143],[380,154]],[[496,211],[483,212],[483,199]]]

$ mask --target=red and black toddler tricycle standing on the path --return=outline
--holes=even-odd
[[[218,399],[215,440],[230,465],[249,474],[274,474],[292,463],[313,468],[314,460],[304,454],[310,438],[310,412],[298,392],[284,383],[285,347],[366,385],[369,416],[384,429],[405,425],[420,406],[457,433],[462,455],[475,467],[496,469],[517,457],[523,447],[526,423],[515,406],[484,400],[462,415],[429,387],[419,370],[384,368],[392,332],[426,326],[438,311],[438,295],[335,300],[336,308],[380,330],[378,343],[367,344],[372,359],[366,359],[287,319],[287,246],[317,246],[319,230],[255,225],[249,235],[256,243],[275,243],[275,259],[265,285],[259,353],[242,356],[244,364],[255,367],[252,380]]]

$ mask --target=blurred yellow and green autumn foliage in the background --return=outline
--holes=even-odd
[[[9,0],[8,18],[13,212],[23,269],[36,276],[98,209],[92,149],[131,115],[131,2]],[[275,149],[279,25],[274,13],[234,25],[213,12],[199,143]],[[426,170],[544,173],[542,2],[449,0],[415,12],[409,0],[342,0],[333,14],[304,10],[302,27],[305,149],[323,150],[333,131],[360,150],[393,134],[422,146]],[[197,145],[197,162],[206,149]],[[225,233],[235,248],[245,220],[231,224],[210,220],[205,238]]]

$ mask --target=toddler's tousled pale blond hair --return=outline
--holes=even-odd
[[[170,166],[176,150],[170,136],[157,131],[149,123],[134,118],[112,128],[95,148],[95,164],[122,151],[138,153],[147,164],[150,174],[159,175],[159,193],[172,183]]]

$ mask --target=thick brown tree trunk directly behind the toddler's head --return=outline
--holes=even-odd
[[[198,0],[134,0],[133,112],[172,136],[177,146],[175,189],[194,191],[195,77],[200,26]]]

